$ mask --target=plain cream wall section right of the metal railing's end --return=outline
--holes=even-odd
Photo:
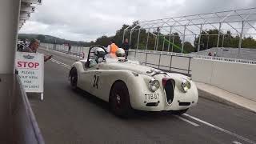
[[[193,58],[192,79],[256,102],[256,65]]]

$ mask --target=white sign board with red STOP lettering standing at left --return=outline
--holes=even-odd
[[[17,52],[15,66],[27,93],[40,93],[43,100],[43,54]]]

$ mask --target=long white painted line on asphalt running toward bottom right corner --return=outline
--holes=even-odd
[[[232,135],[232,136],[234,136],[234,137],[236,137],[236,138],[239,138],[239,139],[241,139],[241,140],[243,140],[243,141],[245,141],[245,142],[249,142],[249,143],[256,144],[256,142],[251,141],[251,140],[248,139],[248,138],[244,138],[244,137],[242,137],[241,135],[234,134],[234,133],[230,132],[229,130],[222,129],[221,127],[214,126],[213,124],[210,124],[209,122],[205,122],[205,121],[203,121],[203,120],[201,120],[201,119],[199,119],[199,118],[195,118],[195,117],[191,116],[190,114],[183,114],[183,115],[185,115],[186,117],[192,118],[192,119],[194,119],[194,120],[196,120],[196,121],[198,121],[198,122],[202,122],[203,124],[205,124],[205,125],[207,125],[207,126],[210,126],[210,127],[213,127],[213,128],[216,129],[216,130],[220,130],[220,131],[222,131],[222,132],[224,132],[224,133],[226,133],[226,134],[230,134],[230,135]]]

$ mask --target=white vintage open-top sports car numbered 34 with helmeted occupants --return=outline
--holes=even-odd
[[[139,62],[126,60],[124,50],[117,56],[102,46],[91,46],[87,60],[70,69],[70,85],[110,103],[114,114],[126,116],[131,110],[186,113],[198,102],[198,90],[191,78],[166,73]]]

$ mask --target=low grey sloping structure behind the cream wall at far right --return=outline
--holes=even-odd
[[[240,56],[238,55],[238,48],[230,47],[213,47],[207,50],[202,50],[191,54],[208,55],[209,52],[213,55],[214,53],[216,53],[217,57],[238,58],[256,61],[256,49],[247,48],[241,48]]]

